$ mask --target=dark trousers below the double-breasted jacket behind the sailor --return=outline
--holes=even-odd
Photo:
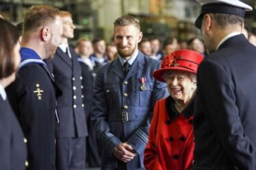
[[[84,170],[86,138],[61,138],[56,140],[56,169]]]

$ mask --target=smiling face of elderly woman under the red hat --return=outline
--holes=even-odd
[[[196,76],[183,71],[166,71],[164,80],[167,83],[170,96],[177,102],[190,101],[196,89]]]

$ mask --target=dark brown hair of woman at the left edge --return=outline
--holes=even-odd
[[[0,79],[16,71],[14,46],[19,34],[14,25],[0,18]]]

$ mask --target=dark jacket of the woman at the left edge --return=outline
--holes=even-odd
[[[27,139],[24,138],[12,108],[0,85],[0,169],[25,170],[27,165]]]

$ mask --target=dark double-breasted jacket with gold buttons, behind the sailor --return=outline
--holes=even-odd
[[[81,85],[81,67],[77,54],[69,48],[71,58],[59,47],[55,56],[47,60],[47,66],[53,72],[55,83],[62,90],[57,98],[57,113],[60,117],[60,137],[86,137],[87,125],[84,113]]]

